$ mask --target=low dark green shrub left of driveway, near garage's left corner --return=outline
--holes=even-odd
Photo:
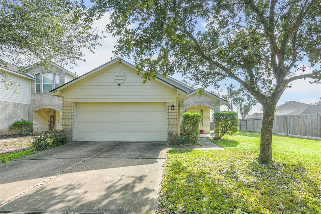
[[[67,143],[67,137],[63,129],[54,129],[47,131],[34,132],[32,146],[37,150],[46,150],[53,147],[61,146]]]

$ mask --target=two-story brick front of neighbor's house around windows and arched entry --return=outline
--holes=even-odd
[[[65,83],[65,73],[56,67],[50,67],[49,70],[50,73],[59,74],[59,85],[63,85]],[[48,73],[48,70],[46,70],[45,67],[35,67],[30,71],[30,73],[34,76],[39,73]],[[53,75],[53,79],[55,79],[55,75]],[[55,80],[53,80],[55,82]],[[42,76],[40,76],[40,83],[42,83]],[[29,121],[33,122],[34,124],[39,124],[39,121],[37,120],[41,116],[37,116],[34,109],[36,109],[39,106],[47,107],[52,106],[55,110],[61,110],[62,109],[62,98],[51,96],[49,93],[36,93],[36,81],[31,81],[31,102],[29,106]],[[53,89],[54,89],[53,85]],[[40,89],[41,90],[41,89]],[[38,110],[39,111],[39,110]],[[52,114],[51,114],[52,115]],[[49,115],[50,118],[50,115]],[[49,120],[49,119],[48,119]],[[60,121],[61,121],[61,114],[60,114]],[[49,123],[48,123],[49,124]],[[48,125],[46,124],[46,127]],[[38,127],[34,127],[33,130],[36,131]],[[49,129],[49,126],[48,126]],[[46,129],[46,130],[48,130]],[[40,129],[39,129],[40,130]]]

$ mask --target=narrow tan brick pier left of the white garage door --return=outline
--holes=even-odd
[[[69,141],[74,140],[74,102],[62,103],[61,128],[65,130],[65,135]]]

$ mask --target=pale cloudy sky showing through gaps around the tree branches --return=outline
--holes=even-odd
[[[96,27],[99,31],[104,31],[106,28],[106,23],[109,22],[109,16],[105,15],[102,19],[96,21],[94,23],[94,27]],[[199,23],[198,28],[203,28],[206,23]],[[92,54],[88,50],[84,50],[84,59],[85,62],[77,62],[78,67],[74,66],[74,68],[70,69],[73,72],[76,72],[77,75],[82,75],[113,58],[112,51],[114,50],[114,45],[116,44],[117,38],[113,37],[110,34],[105,33],[106,38],[100,40],[101,46],[97,47],[95,53]],[[133,63],[132,59],[125,59],[131,63]],[[300,65],[308,65],[308,62],[302,61]],[[68,68],[68,67],[66,67]],[[320,69],[320,66],[314,67],[314,69]],[[175,74],[173,76],[177,80],[183,80],[183,77],[180,74]],[[228,83],[226,85],[226,83]],[[223,92],[226,91],[228,85],[232,83],[233,85],[238,85],[234,80],[228,80],[228,82],[224,81],[221,85],[221,90]],[[213,87],[206,88],[207,91],[214,91]],[[303,103],[313,103],[319,100],[321,96],[321,85],[310,85],[309,79],[306,80],[296,80],[292,82],[292,87],[288,88],[284,91],[281,96],[278,105],[288,102],[288,101],[298,101]],[[235,108],[236,109],[236,108]],[[221,106],[221,111],[226,110],[225,107]],[[260,112],[260,106],[257,105],[251,113]]]

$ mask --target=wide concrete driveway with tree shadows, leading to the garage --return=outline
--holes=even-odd
[[[73,142],[0,165],[0,212],[154,213],[166,143]]]

